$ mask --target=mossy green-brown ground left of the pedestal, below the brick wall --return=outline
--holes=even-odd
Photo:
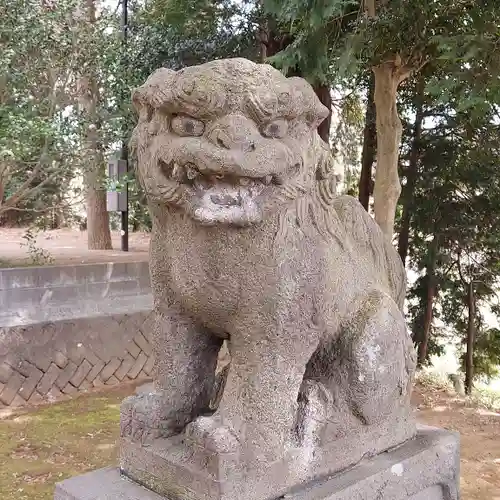
[[[52,500],[56,482],[116,463],[125,395],[89,394],[0,420],[1,499]]]

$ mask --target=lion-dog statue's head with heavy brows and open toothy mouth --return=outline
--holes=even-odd
[[[132,137],[150,202],[203,225],[247,226],[335,175],[316,128],[328,115],[301,78],[246,59],[161,68],[133,94]]]

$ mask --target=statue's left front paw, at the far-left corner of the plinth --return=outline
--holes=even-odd
[[[173,422],[165,418],[165,401],[160,394],[130,396],[120,409],[120,436],[143,445],[159,437],[179,432]]]

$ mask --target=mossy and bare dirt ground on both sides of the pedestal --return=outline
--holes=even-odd
[[[0,415],[0,498],[52,500],[56,482],[116,463],[120,402],[134,389]],[[460,433],[462,500],[500,500],[500,413],[430,388],[414,404],[420,422]]]

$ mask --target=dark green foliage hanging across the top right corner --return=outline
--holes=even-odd
[[[263,0],[263,6],[293,40],[272,61],[283,68],[298,66],[313,82],[338,81],[397,54],[403,67],[418,69],[437,60],[449,73],[461,75],[458,82],[430,82],[438,93],[446,86],[458,90],[468,75],[469,81],[476,79],[469,104],[478,104],[480,95],[487,94],[490,102],[498,96],[491,87],[500,57],[500,5],[495,0],[476,5],[393,0],[383,7],[378,3],[374,18],[356,0]]]

